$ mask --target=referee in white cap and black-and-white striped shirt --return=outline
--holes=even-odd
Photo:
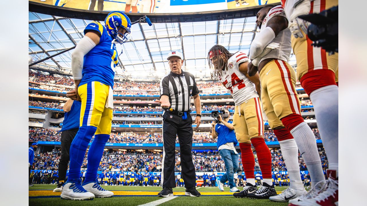
[[[196,190],[195,166],[192,161],[192,117],[190,115],[191,96],[196,109],[196,128],[200,125],[201,108],[199,89],[195,77],[181,70],[182,56],[178,51],[171,51],[167,57],[171,72],[160,81],[160,100],[163,112],[163,159],[161,181],[163,190],[159,197],[173,196],[175,183],[175,143],[176,136],[181,150],[182,179],[187,196],[200,196]]]

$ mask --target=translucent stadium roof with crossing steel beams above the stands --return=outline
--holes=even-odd
[[[170,71],[166,57],[168,52],[176,50],[183,54],[185,71],[199,80],[208,80],[211,76],[208,50],[220,44],[230,52],[248,54],[258,32],[255,21],[256,17],[252,16],[204,22],[153,23],[152,26],[134,24],[130,39],[122,45],[116,44],[117,51],[123,51],[116,75],[125,80],[159,81]],[[83,38],[83,30],[90,22],[29,12],[30,62],[75,46]],[[70,71],[71,52],[48,59],[42,65]],[[293,54],[290,64],[295,65]]]

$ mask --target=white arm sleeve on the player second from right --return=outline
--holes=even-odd
[[[264,29],[261,29],[261,32],[256,35],[255,39],[251,43],[249,58],[252,60],[259,56],[266,45],[268,45],[274,38],[275,33],[272,28],[265,27]]]

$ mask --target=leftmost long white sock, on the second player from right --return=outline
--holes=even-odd
[[[298,163],[298,147],[294,139],[279,141],[283,161],[286,164],[290,187],[301,190],[303,183]]]

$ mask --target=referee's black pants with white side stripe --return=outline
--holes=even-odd
[[[175,181],[175,143],[176,135],[181,150],[182,179],[186,188],[195,187],[195,166],[192,162],[192,118],[187,119],[171,112],[163,114],[163,159],[162,159],[162,188],[176,187]]]

